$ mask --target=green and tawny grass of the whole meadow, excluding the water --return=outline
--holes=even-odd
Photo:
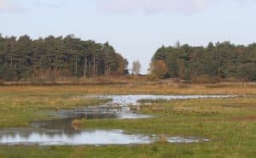
[[[26,127],[47,119],[49,110],[70,109],[108,100],[78,99],[83,94],[237,94],[227,99],[143,100],[137,120],[83,120],[86,129],[124,129],[127,133],[209,138],[207,143],[104,146],[0,146],[0,157],[254,157],[256,86],[234,85],[95,85],[0,87],[0,127]],[[134,108],[135,109],[135,108]],[[47,151],[47,152],[45,152]]]

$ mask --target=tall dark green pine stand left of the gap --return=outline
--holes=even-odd
[[[0,80],[44,80],[61,76],[96,77],[127,73],[128,61],[108,42],[83,41],[73,35],[32,40],[0,34]]]

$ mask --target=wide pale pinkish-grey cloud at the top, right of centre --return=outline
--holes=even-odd
[[[238,3],[253,3],[256,0],[96,0],[104,10],[117,13],[161,13],[179,12],[195,14],[205,11],[218,3],[234,1]]]

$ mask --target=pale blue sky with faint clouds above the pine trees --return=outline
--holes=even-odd
[[[255,17],[256,0],[0,0],[3,36],[109,42],[143,74],[162,45],[256,42]]]

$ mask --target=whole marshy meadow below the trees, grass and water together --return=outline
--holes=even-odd
[[[255,155],[253,83],[165,87],[2,86],[0,156]]]

